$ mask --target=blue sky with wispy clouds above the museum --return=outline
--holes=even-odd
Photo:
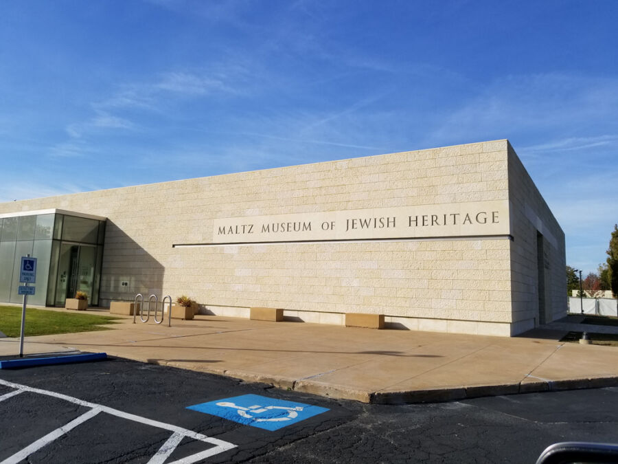
[[[595,270],[617,19],[615,0],[3,1],[0,201],[508,138],[567,263]]]

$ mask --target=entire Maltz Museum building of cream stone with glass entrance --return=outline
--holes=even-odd
[[[0,302],[516,335],[567,311],[564,232],[507,140],[0,203]]]

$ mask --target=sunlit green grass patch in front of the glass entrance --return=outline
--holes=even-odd
[[[45,309],[26,309],[25,335],[53,335],[54,333],[108,330],[101,324],[115,324],[120,318],[95,314],[65,313]],[[0,331],[7,337],[19,337],[21,308],[0,306]]]

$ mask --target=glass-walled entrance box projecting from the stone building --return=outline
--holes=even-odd
[[[37,258],[32,305],[64,306],[76,291],[99,304],[105,219],[52,210],[0,217],[0,302],[21,303],[21,256]]]

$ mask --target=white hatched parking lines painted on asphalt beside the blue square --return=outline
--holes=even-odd
[[[215,446],[214,448],[209,448],[208,450],[205,450],[203,452],[192,454],[191,456],[187,456],[183,459],[180,459],[179,461],[174,461],[174,463],[170,463],[170,464],[192,464],[192,463],[196,463],[197,461],[201,461],[202,459],[206,459],[209,456],[214,456],[215,454],[219,454],[227,450],[231,450],[232,448],[236,448],[236,445],[234,445],[233,443],[229,443],[228,441],[223,441],[223,440],[207,437],[206,435],[198,433],[198,432],[194,432],[193,430],[188,430],[186,428],[182,428],[178,426],[172,426],[172,424],[169,424],[169,423],[154,421],[152,419],[148,419],[147,417],[133,415],[128,412],[120,411],[114,408],[108,408],[108,406],[103,406],[102,404],[91,403],[89,401],[84,401],[82,399],[78,399],[75,397],[69,397],[68,395],[62,395],[62,393],[56,393],[56,392],[52,392],[49,390],[42,390],[41,388],[32,388],[27,385],[14,384],[13,382],[7,382],[3,379],[0,379],[0,385],[8,386],[10,388],[15,388],[14,391],[10,393],[6,393],[5,395],[2,395],[0,397],[0,401],[9,399],[10,397],[14,397],[15,395],[19,395],[19,393],[30,392],[30,393],[36,393],[38,395],[46,395],[49,397],[63,399],[65,401],[69,401],[79,406],[91,408],[89,412],[67,423],[65,426],[57,428],[53,432],[45,435],[45,437],[38,439],[37,441],[27,446],[23,450],[17,452],[13,456],[10,456],[8,459],[5,459],[0,464],[17,463],[19,461],[22,461],[23,459],[26,459],[27,456],[30,456],[30,454],[32,454],[33,452],[36,452],[37,450],[41,449],[43,446],[47,445],[48,443],[51,443],[52,441],[58,439],[58,437],[61,437],[63,434],[69,432],[69,430],[80,425],[80,423],[83,423],[84,421],[87,421],[91,417],[94,417],[99,412],[105,412],[106,414],[110,414],[116,417],[121,417],[122,419],[128,419],[130,421],[144,423],[147,426],[162,428],[164,430],[169,430],[170,432],[172,432],[172,436],[168,439],[168,441],[165,441],[165,443],[163,443],[163,446],[161,446],[157,454],[155,454],[155,456],[152,456],[152,459],[150,460],[150,462],[152,463],[164,462],[165,459],[167,459],[170,456],[170,454],[174,452],[174,450],[176,449],[176,447],[179,445],[179,443],[182,441],[184,437],[189,437],[194,440],[203,441],[204,443],[209,443]],[[17,459],[16,461],[13,460],[14,458],[16,459],[18,457],[19,459]]]

